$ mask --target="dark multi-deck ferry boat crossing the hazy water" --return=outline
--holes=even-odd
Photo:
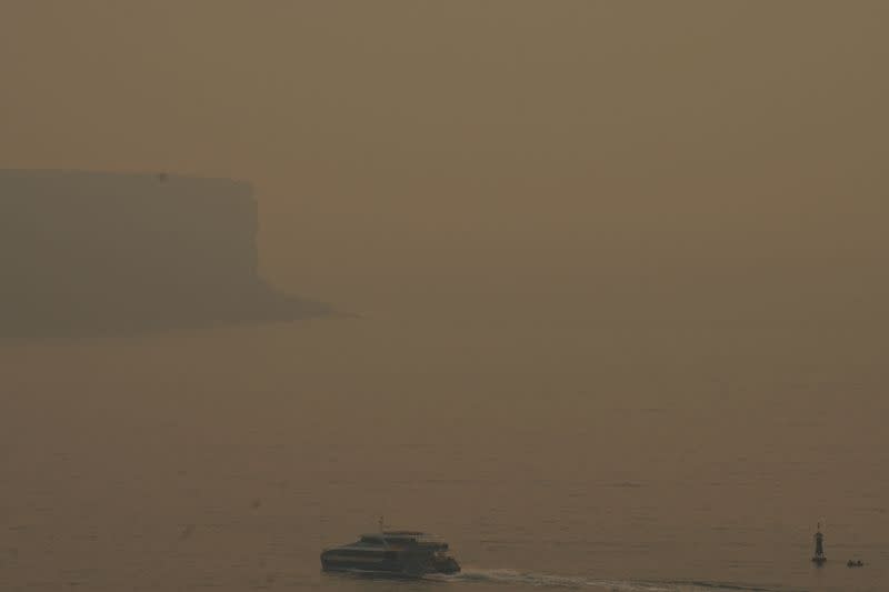
[[[448,554],[448,543],[438,536],[380,528],[380,532],[362,534],[353,543],[322,551],[321,569],[327,572],[421,578],[430,573],[458,573],[460,564]]]

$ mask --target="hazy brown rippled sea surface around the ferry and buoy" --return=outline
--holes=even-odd
[[[880,352],[579,310],[3,343],[0,590],[889,589]],[[320,572],[380,515],[465,571]]]

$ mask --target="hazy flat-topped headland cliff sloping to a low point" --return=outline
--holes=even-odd
[[[290,320],[318,303],[257,275],[249,184],[0,171],[0,335]]]

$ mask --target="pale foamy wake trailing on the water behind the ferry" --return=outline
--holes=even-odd
[[[720,582],[643,582],[627,580],[608,580],[579,575],[556,575],[547,573],[529,573],[515,570],[476,570],[463,569],[453,575],[428,575],[430,580],[447,582],[488,582],[491,584],[511,584],[529,588],[589,589],[613,592],[773,592],[771,589],[728,584]]]

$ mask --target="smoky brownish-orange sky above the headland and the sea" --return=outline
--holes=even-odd
[[[357,310],[627,281],[872,313],[886,22],[880,0],[6,0],[0,167],[251,180],[266,274]]]

